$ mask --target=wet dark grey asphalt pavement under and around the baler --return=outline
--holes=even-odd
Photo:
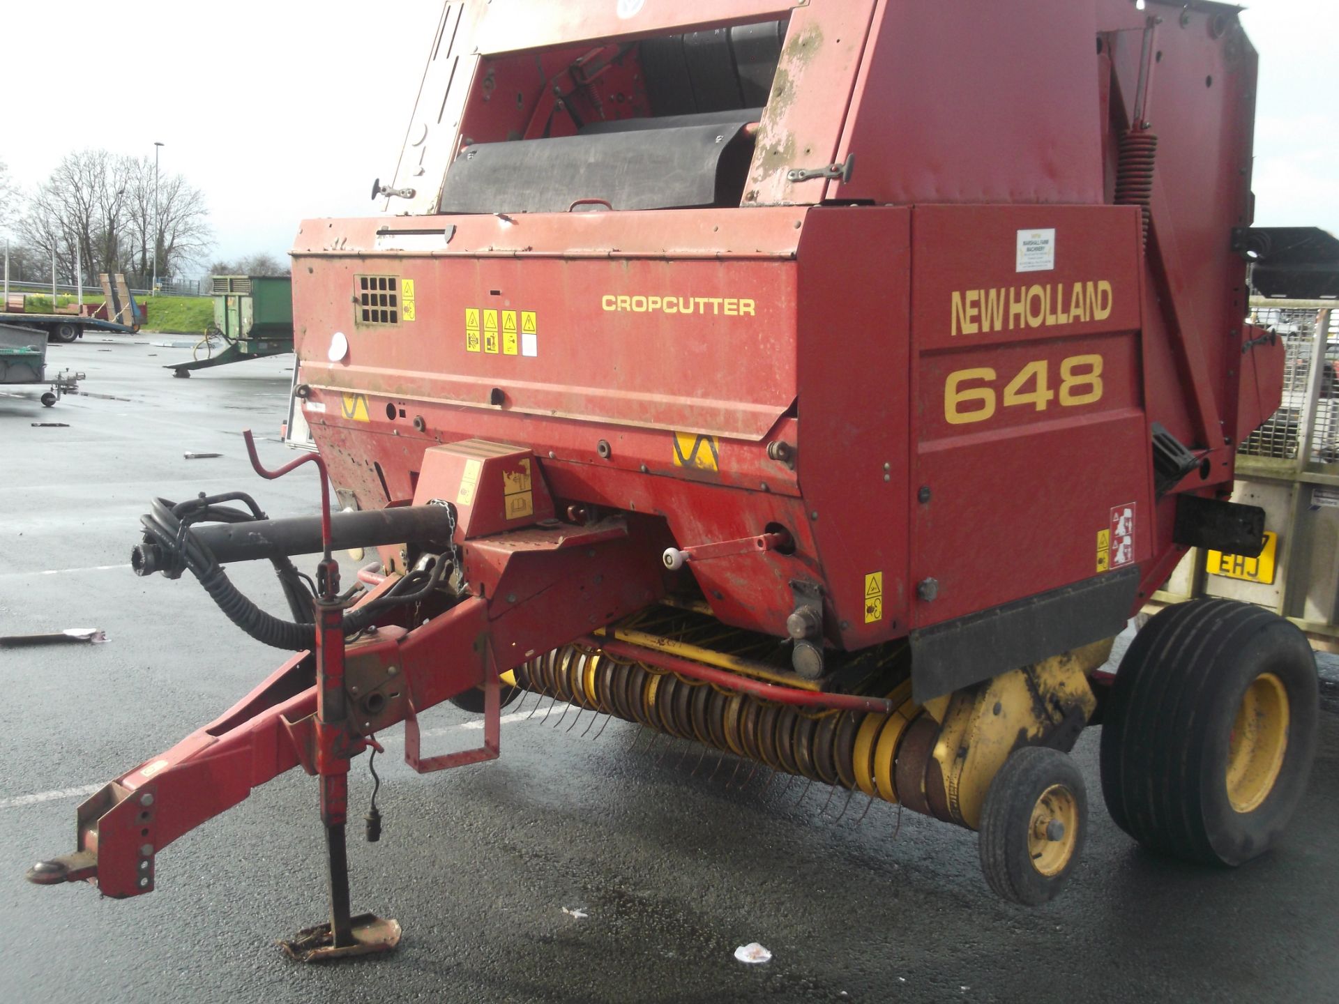
[[[84,792],[284,660],[189,576],[137,578],[129,553],[155,495],[244,489],[270,515],[317,510],[312,471],[262,482],[240,436],[252,427],[268,463],[292,458],[276,442],[292,356],[178,380],[159,367],[190,351],[147,341],[52,347],[51,363],[87,372],[86,392],[54,408],[0,396],[0,633],[98,626],[108,639],[0,653],[3,1000],[1339,999],[1334,714],[1288,834],[1237,870],[1137,849],[1102,806],[1090,730],[1075,751],[1091,802],[1085,859],[1038,910],[991,894],[969,833],[627,723],[546,714],[534,697],[509,709],[493,763],[419,776],[398,759],[398,730],[386,736],[384,835],[368,845],[351,826],[351,881],[355,909],[403,925],[392,956],[304,967],[273,945],[325,912],[316,786],[301,772],[166,849],[149,896],[25,884],[33,861],[74,849]],[[262,565],[230,573],[281,609]],[[477,724],[431,711],[426,752],[479,744]],[[355,819],[368,782],[360,759]],[[754,941],[770,963],[735,960]]]

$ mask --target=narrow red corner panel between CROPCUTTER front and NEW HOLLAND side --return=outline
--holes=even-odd
[[[814,209],[799,245],[799,485],[849,649],[907,633],[911,220]]]

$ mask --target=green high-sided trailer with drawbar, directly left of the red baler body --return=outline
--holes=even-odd
[[[212,292],[214,325],[201,345],[217,337],[226,343],[224,351],[165,369],[190,376],[191,369],[293,351],[293,281],[288,276],[214,276]]]

